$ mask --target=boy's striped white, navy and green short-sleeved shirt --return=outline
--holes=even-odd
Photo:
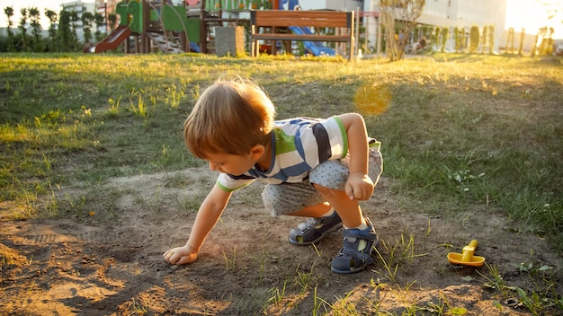
[[[228,192],[255,180],[264,183],[298,183],[327,160],[348,154],[348,136],[340,118],[290,118],[274,122],[270,170],[257,165],[241,175],[220,173],[217,184]]]

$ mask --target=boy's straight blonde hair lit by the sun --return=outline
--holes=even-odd
[[[239,76],[221,76],[201,93],[183,123],[186,145],[195,156],[248,154],[255,145],[267,145],[275,108],[255,82]]]

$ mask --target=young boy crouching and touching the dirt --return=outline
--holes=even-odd
[[[272,215],[310,217],[290,230],[291,243],[320,241],[344,224],[344,247],[332,259],[332,270],[353,273],[373,263],[378,236],[358,201],[371,197],[382,162],[363,118],[347,113],[274,121],[274,114],[265,92],[239,77],[219,78],[201,93],[184,123],[184,138],[195,156],[220,172],[219,179],[200,206],[190,238],[165,251],[166,262],[197,259],[232,192],[262,180],[264,206]]]

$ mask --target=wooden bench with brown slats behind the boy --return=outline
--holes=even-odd
[[[353,12],[338,11],[288,11],[288,10],[259,10],[250,12],[251,26],[251,56],[260,54],[260,40],[300,40],[300,41],[329,41],[348,43],[348,60],[354,56],[354,25]],[[336,34],[293,34],[280,32],[280,28],[288,27],[331,27],[342,28]],[[269,28],[270,33],[260,33],[260,28]],[[273,45],[275,49],[275,44]]]

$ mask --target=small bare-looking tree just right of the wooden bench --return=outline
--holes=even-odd
[[[390,61],[398,61],[405,54],[407,40],[395,36],[395,21],[403,22],[402,31],[405,39],[410,38],[415,29],[416,20],[423,12],[425,0],[380,0],[381,24],[385,27],[387,37],[387,57]]]

